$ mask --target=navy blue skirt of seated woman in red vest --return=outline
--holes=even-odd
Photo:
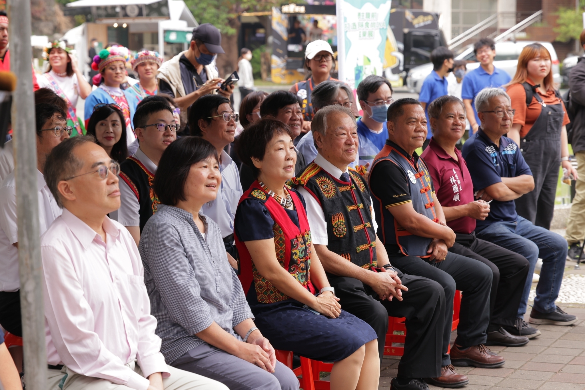
[[[370,325],[345,310],[333,319],[302,306],[301,302],[287,299],[256,303],[251,308],[254,323],[274,348],[312,360],[343,360],[378,338]]]

